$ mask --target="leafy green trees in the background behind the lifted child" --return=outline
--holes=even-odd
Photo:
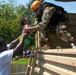
[[[15,0],[12,0],[15,3]],[[9,3],[0,3],[0,38],[4,38],[7,43],[17,38],[21,31],[20,18],[29,18],[30,24],[33,25],[34,14],[29,9],[30,4],[15,6],[9,0]],[[12,3],[12,4],[11,4]]]

